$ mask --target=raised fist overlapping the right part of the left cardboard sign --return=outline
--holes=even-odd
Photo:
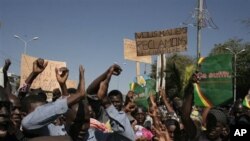
[[[68,76],[69,76],[69,70],[66,67],[56,68],[56,79],[59,84],[65,84]]]

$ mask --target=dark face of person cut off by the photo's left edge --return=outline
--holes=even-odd
[[[7,135],[8,125],[10,124],[10,105],[9,101],[0,101],[0,138]]]

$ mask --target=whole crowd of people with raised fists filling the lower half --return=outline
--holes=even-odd
[[[0,141],[228,141],[230,125],[250,124],[250,110],[237,100],[230,106],[202,108],[193,105],[193,75],[183,98],[168,97],[164,88],[159,97],[150,94],[149,107],[135,103],[135,93],[109,90],[112,76],[122,72],[113,64],[85,87],[84,68],[79,66],[77,88],[66,85],[69,70],[56,68],[60,88],[52,101],[44,90],[31,89],[33,81],[49,62],[37,59],[33,69],[12,94],[3,66],[4,86],[0,86]],[[250,92],[249,92],[250,95]]]

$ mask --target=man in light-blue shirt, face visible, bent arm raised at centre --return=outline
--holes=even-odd
[[[122,95],[118,90],[113,90],[109,94],[108,87],[112,74],[119,75],[121,69],[117,65],[113,65],[103,75],[98,77],[100,81],[95,83],[98,87],[97,97],[110,120],[113,133],[104,133],[100,130],[89,130],[90,138],[88,140],[116,141],[116,140],[135,140],[134,130],[124,111],[122,111]],[[100,79],[101,77],[104,77]],[[97,80],[96,79],[96,80]],[[97,82],[95,80],[95,82]],[[97,86],[98,85],[98,86]],[[93,85],[92,85],[93,87]],[[113,105],[114,104],[114,105]],[[93,138],[93,139],[91,139]]]

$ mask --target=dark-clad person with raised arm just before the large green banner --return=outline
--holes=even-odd
[[[193,83],[198,83],[198,79],[198,76],[194,74],[185,88],[181,118],[187,133],[187,138],[190,140],[224,140],[229,136],[229,132],[223,132],[225,131],[224,129],[228,129],[225,113],[217,109],[211,109],[206,117],[207,130],[205,131],[202,131],[201,128],[197,127],[190,117],[193,100]]]

